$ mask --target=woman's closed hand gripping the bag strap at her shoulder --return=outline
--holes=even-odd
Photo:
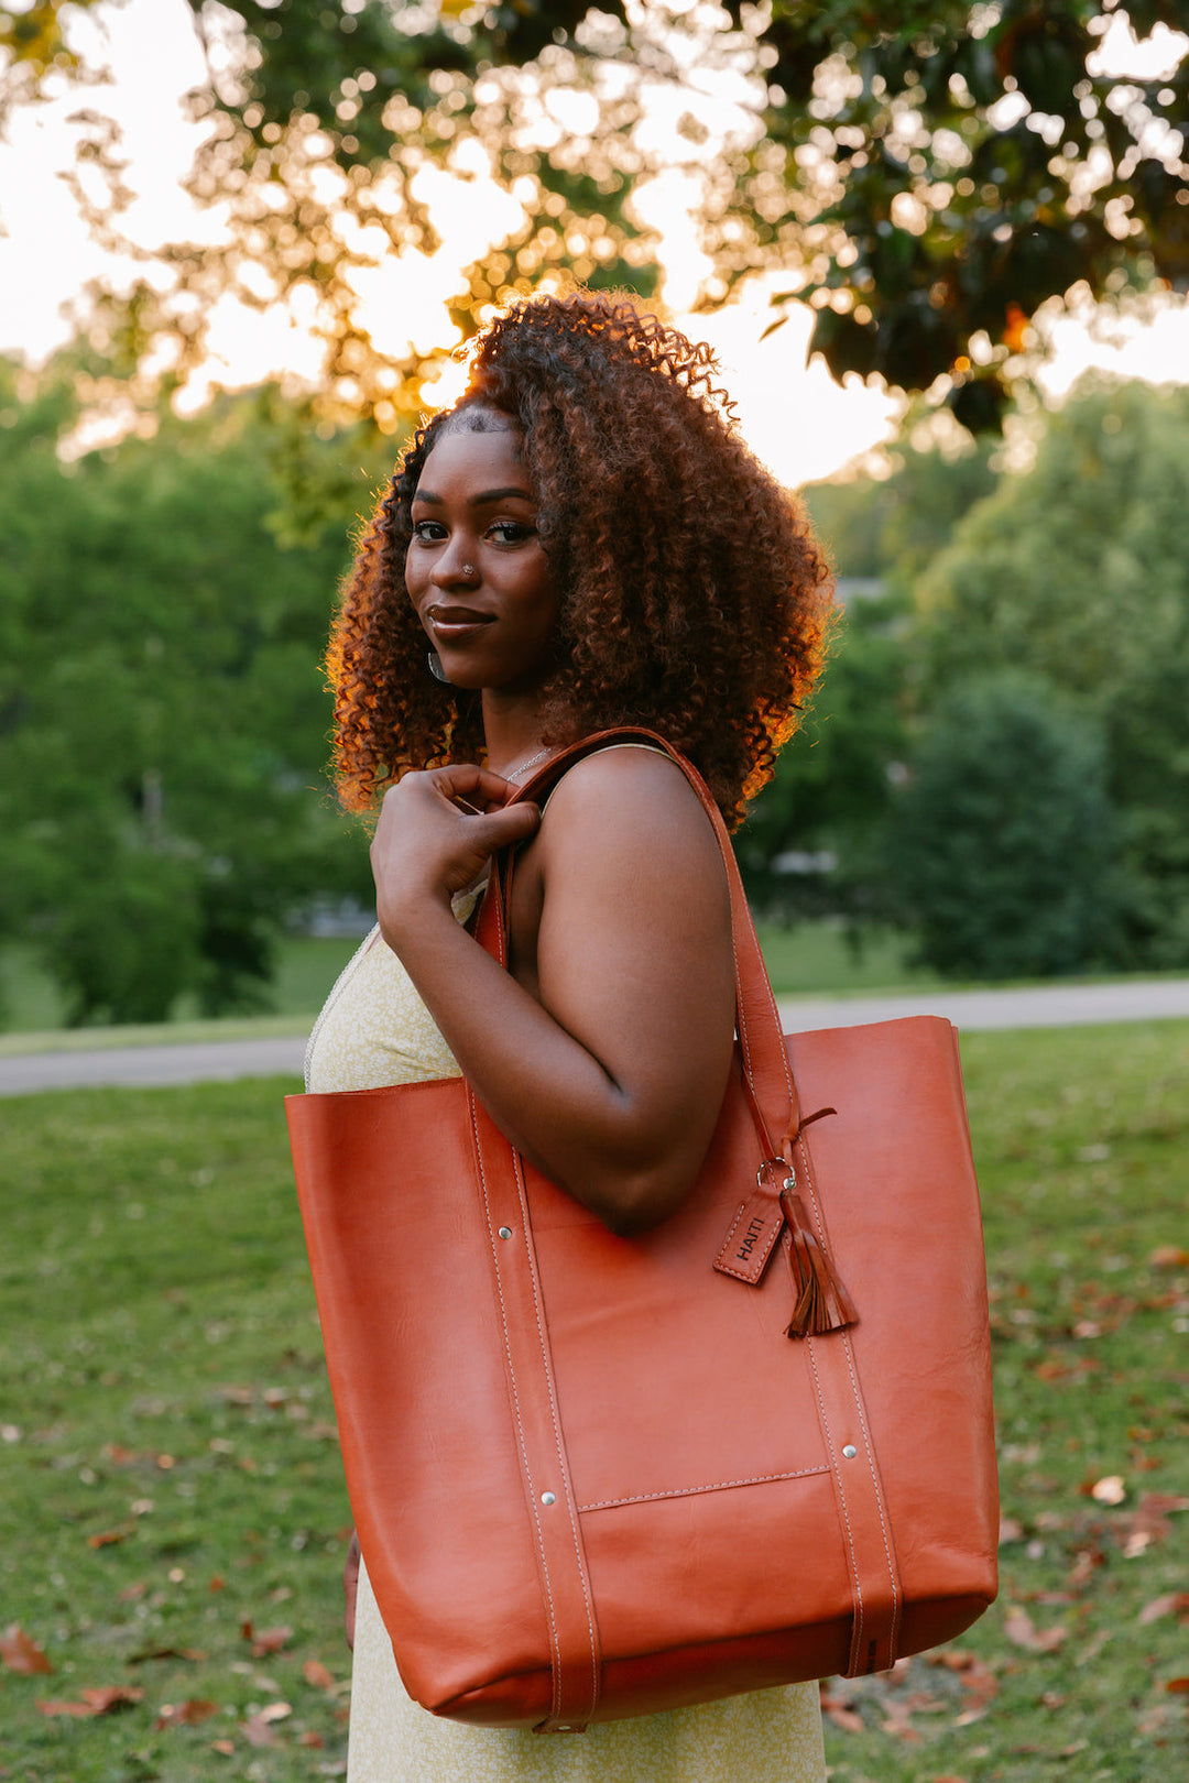
[[[406,774],[389,788],[371,843],[376,915],[389,945],[428,904],[449,909],[453,893],[480,879],[497,849],[537,831],[535,804],[506,804],[515,790],[472,765]]]

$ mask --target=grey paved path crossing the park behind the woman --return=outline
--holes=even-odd
[[[1052,984],[1018,991],[938,991],[927,997],[781,998],[790,1034],[857,1027],[904,1015],[945,1015],[959,1029],[1073,1027],[1189,1016],[1189,979]],[[175,1047],[103,1047],[0,1059],[0,1095],[86,1084],[196,1084],[234,1077],[301,1075],[305,1039],[216,1039]]]

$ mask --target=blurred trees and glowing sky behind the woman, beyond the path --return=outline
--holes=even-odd
[[[321,653],[513,292],[720,353],[845,624],[777,988],[1189,968],[1189,7],[0,5],[2,1018],[317,1007]]]

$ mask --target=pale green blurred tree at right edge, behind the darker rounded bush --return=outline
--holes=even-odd
[[[1023,663],[1102,727],[1130,884],[1118,965],[1189,961],[1185,563],[1189,394],[1089,380],[920,581],[927,704]]]

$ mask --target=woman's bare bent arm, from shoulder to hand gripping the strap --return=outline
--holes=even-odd
[[[440,776],[478,772],[410,776],[385,797],[373,845],[381,933],[512,1143],[613,1230],[644,1228],[692,1187],[727,1080],[734,979],[718,845],[663,756],[608,751],[572,768],[517,867],[517,900],[540,908],[535,997],[449,913],[476,854],[513,820],[521,834],[531,824],[519,806],[453,809]],[[494,801],[496,783],[485,774],[462,795]]]

